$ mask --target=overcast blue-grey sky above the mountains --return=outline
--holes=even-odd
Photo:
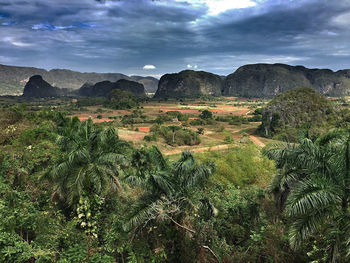
[[[0,64],[160,77],[350,68],[350,0],[0,0]]]

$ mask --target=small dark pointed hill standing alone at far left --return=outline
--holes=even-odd
[[[64,90],[51,86],[40,75],[32,76],[23,91],[25,98],[59,97],[64,94]]]

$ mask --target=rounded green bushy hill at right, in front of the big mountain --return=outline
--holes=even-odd
[[[295,140],[303,128],[311,132],[332,126],[336,108],[312,88],[293,89],[278,94],[263,110],[259,130],[267,137]]]

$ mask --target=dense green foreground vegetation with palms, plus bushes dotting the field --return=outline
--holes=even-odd
[[[178,125],[150,136],[199,143]],[[305,136],[169,160],[113,123],[0,109],[0,262],[348,262],[349,131]]]

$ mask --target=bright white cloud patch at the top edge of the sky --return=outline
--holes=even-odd
[[[184,2],[184,0],[175,0],[176,2]],[[187,0],[186,2],[201,6],[205,4],[208,7],[209,15],[218,15],[231,9],[240,9],[256,6],[256,2],[252,0]]]

